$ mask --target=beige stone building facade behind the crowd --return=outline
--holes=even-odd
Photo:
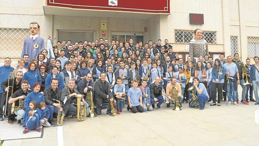
[[[44,38],[45,46],[48,34],[54,45],[62,40],[92,42],[100,37],[123,42],[132,38],[144,43],[161,39],[164,45],[168,39],[173,51],[187,59],[193,31],[200,28],[213,58],[239,53],[244,61],[259,55],[258,0],[163,1],[168,4],[165,13],[75,9],[50,6],[47,2],[51,0],[1,0],[0,61],[5,57],[20,58],[24,38],[30,35],[29,23],[33,21],[40,25],[39,36]],[[156,3],[147,3],[149,6],[155,7]],[[203,14],[204,24],[190,24],[190,13]]]

